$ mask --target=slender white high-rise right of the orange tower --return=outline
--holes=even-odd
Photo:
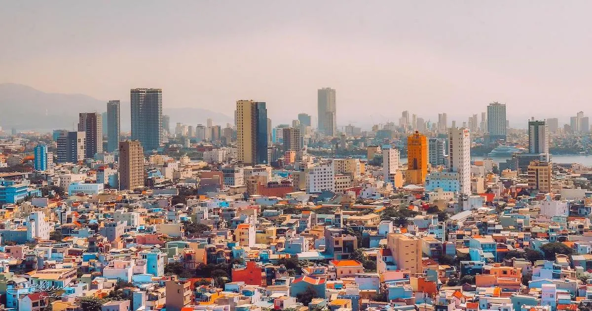
[[[458,173],[459,193],[471,195],[471,137],[468,128],[448,130],[448,155],[450,170]]]

